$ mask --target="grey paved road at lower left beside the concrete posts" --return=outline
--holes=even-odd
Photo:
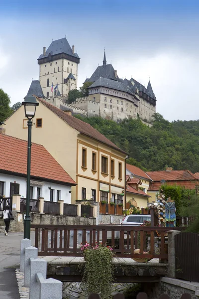
[[[0,299],[20,299],[15,269],[20,263],[22,239],[23,232],[10,232],[9,236],[0,233]],[[34,233],[31,233],[31,240],[34,240]]]

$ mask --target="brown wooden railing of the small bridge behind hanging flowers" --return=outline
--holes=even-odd
[[[35,228],[35,247],[39,255],[81,256],[80,244],[102,243],[113,248],[117,257],[168,259],[166,227],[31,225]],[[172,229],[180,229],[172,228]],[[147,251],[150,237],[150,252]],[[157,250],[157,246],[159,250]],[[134,254],[140,249],[140,254]]]

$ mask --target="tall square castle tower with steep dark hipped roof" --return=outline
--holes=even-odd
[[[39,81],[45,97],[56,95],[59,91],[63,99],[67,99],[69,91],[77,89],[80,57],[66,37],[52,41],[47,51],[44,47],[37,60]]]

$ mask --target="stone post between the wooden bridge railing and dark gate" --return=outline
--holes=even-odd
[[[168,231],[168,277],[176,278],[176,263],[175,263],[175,235],[180,234],[180,231]]]

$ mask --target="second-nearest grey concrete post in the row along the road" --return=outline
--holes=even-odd
[[[36,281],[36,273],[41,273],[46,279],[47,262],[41,259],[30,258],[30,295],[29,299],[39,298],[40,287]]]

